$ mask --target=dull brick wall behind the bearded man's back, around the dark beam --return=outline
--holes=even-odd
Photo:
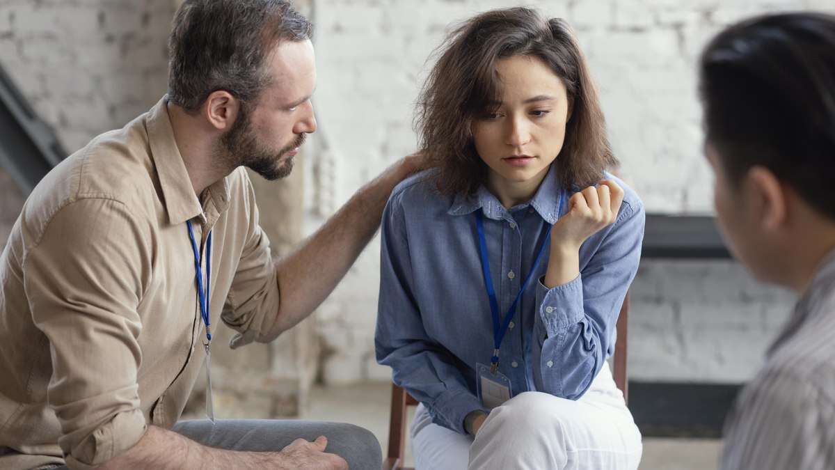
[[[0,64],[73,152],[165,93],[173,0],[0,0]],[[0,169],[0,246],[23,195]]]

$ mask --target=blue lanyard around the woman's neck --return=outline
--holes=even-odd
[[[559,195],[559,209],[557,210],[558,218],[563,212],[564,202],[565,192],[563,191]],[[484,237],[483,208],[482,210],[476,212],[476,228],[478,230],[478,250],[481,252],[481,270],[484,275],[484,285],[487,287],[487,296],[490,299],[490,312],[493,314],[493,357],[490,358],[490,370],[493,373],[495,373],[496,370],[498,370],[498,350],[499,347],[502,345],[504,335],[508,332],[510,321],[514,318],[516,305],[519,304],[519,299],[522,298],[522,294],[524,294],[524,291],[528,289],[530,279],[534,277],[534,273],[536,273],[536,268],[539,267],[539,262],[542,261],[542,254],[545,251],[545,247],[548,246],[548,243],[551,239],[551,227],[552,226],[549,223],[545,223],[544,230],[547,231],[547,234],[545,235],[545,239],[542,243],[542,246],[539,247],[539,251],[537,251],[536,253],[536,258],[534,258],[534,264],[533,266],[531,266],[528,275],[524,278],[522,287],[519,288],[519,294],[516,294],[516,299],[514,299],[514,303],[510,304],[508,313],[504,315],[504,321],[502,321],[502,319],[500,319],[498,316],[498,300],[496,299],[496,291],[493,289],[493,276],[490,275],[490,260],[488,258],[487,253],[487,239]]]

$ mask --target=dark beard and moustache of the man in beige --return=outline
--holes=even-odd
[[[271,151],[258,141],[252,129],[249,112],[241,108],[238,116],[239,119],[235,120],[232,128],[220,137],[220,160],[232,168],[246,166],[269,181],[290,176],[293,171],[293,159],[291,157],[281,161],[281,158],[304,144],[306,134],[300,134],[291,145],[282,148],[281,151]]]

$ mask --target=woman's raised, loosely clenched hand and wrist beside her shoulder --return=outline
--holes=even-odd
[[[589,237],[615,222],[624,190],[615,181],[600,181],[569,199],[569,212],[551,228],[551,253],[545,287],[567,284],[579,275],[579,247]]]

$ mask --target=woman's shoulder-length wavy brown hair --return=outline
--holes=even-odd
[[[486,181],[487,165],[473,144],[473,120],[500,102],[496,63],[514,55],[537,57],[563,80],[569,120],[559,152],[564,187],[600,181],[616,166],[606,138],[597,90],[568,23],[544,19],[530,8],[481,13],[460,24],[440,48],[417,102],[419,146],[443,194],[473,194]]]

